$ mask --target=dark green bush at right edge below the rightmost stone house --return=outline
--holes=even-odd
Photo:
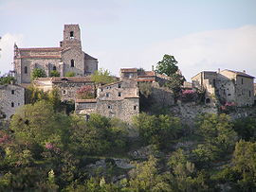
[[[256,118],[244,117],[235,120],[234,131],[246,141],[256,141]]]

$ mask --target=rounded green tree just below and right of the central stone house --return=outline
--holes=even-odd
[[[155,116],[140,113],[134,117],[133,123],[145,145],[154,144],[164,147],[172,139],[178,138],[182,131],[179,118],[167,114]]]

